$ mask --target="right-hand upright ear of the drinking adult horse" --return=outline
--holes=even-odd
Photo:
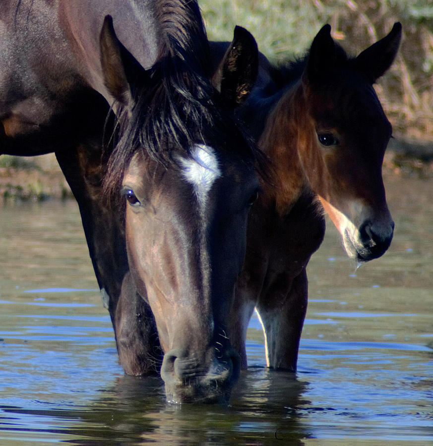
[[[245,28],[236,26],[233,41],[215,71],[212,83],[226,103],[235,108],[247,98],[257,72],[257,43]]]

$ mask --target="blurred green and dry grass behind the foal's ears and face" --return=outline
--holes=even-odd
[[[198,0],[211,40],[247,28],[273,61],[302,55],[325,23],[351,54],[403,25],[401,50],[377,91],[394,133],[433,141],[433,0]]]

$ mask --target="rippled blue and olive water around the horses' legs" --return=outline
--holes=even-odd
[[[356,270],[331,224],[295,375],[257,319],[231,405],[165,402],[118,364],[74,203],[0,214],[0,444],[433,444],[433,187],[388,178],[393,244]]]

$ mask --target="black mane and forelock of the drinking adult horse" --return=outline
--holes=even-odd
[[[161,0],[155,6],[162,38],[159,57],[134,86],[132,110],[121,108],[117,115],[119,140],[104,180],[111,197],[139,150],[166,167],[177,167],[175,154],[190,157],[196,142],[216,142],[240,158],[255,158],[252,143],[227,144],[228,133],[238,140],[246,137],[209,81],[210,49],[197,3]]]

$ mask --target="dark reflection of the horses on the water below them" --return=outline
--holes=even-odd
[[[3,414],[11,419],[18,415],[27,420],[56,420],[54,426],[44,426],[40,420],[36,431],[69,436],[70,441],[72,436],[75,445],[88,445],[89,440],[95,444],[139,444],[143,440],[174,445],[240,444],[246,439],[262,444],[275,438],[301,444],[307,433],[297,422],[296,406],[305,384],[293,375],[261,369],[249,371],[238,387],[249,387],[248,394],[237,394],[231,407],[174,406],[165,402],[158,378],[121,377],[88,407],[3,407]],[[67,427],[60,427],[63,424]]]

